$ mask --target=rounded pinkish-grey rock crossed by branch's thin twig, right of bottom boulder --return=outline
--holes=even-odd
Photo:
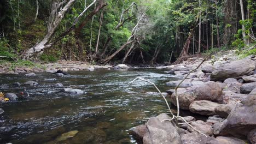
[[[213,134],[213,128],[211,125],[206,124],[203,121],[195,121],[191,122],[190,125],[192,125],[195,129],[201,131],[203,134],[211,136]],[[194,132],[195,130],[191,127],[188,127],[188,131]]]

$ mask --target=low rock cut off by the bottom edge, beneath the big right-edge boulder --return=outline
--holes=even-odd
[[[207,144],[246,144],[246,142],[236,137],[218,136],[215,140],[211,140]]]

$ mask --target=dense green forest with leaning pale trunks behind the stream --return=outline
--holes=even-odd
[[[154,64],[223,49],[255,53],[255,15],[253,0],[3,0],[0,55]]]

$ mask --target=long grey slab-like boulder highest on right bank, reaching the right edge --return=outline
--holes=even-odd
[[[255,63],[251,59],[242,59],[220,65],[211,74],[212,81],[224,81],[228,78],[236,78],[251,73],[255,69]]]

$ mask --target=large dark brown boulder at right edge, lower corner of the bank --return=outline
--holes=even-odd
[[[256,95],[253,96],[255,101]],[[220,135],[231,134],[238,138],[245,138],[249,131],[256,128],[256,105],[249,102],[249,100],[242,101],[242,104],[237,104],[234,107],[224,121],[225,123],[220,129]]]

